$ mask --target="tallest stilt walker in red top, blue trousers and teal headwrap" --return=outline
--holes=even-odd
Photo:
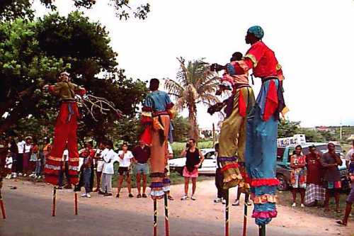
[[[254,203],[252,217],[265,236],[265,225],[277,216],[275,208],[275,177],[279,114],[287,111],[282,95],[282,69],[275,54],[261,40],[263,29],[252,26],[247,30],[246,43],[251,44],[244,59],[226,66],[215,65],[217,70],[227,69],[229,74],[244,74],[253,69],[255,77],[262,80],[261,91],[247,118],[245,163],[251,177]]]

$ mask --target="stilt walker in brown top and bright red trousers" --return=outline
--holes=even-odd
[[[62,155],[65,147],[69,150],[69,182],[76,185],[79,182],[79,152],[77,150],[76,130],[79,109],[75,95],[84,96],[86,90],[70,82],[69,73],[62,72],[55,85],[44,87],[60,99],[61,105],[54,130],[52,150],[45,162],[45,181],[54,186],[59,184],[59,174],[62,171]],[[53,198],[55,198],[55,193]],[[53,201],[53,204],[55,202]],[[55,210],[53,210],[55,215]]]

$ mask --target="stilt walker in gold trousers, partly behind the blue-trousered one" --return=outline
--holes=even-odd
[[[242,59],[241,52],[232,55],[231,62],[239,62]],[[217,70],[217,64],[212,64],[212,70]],[[254,104],[254,95],[249,86],[249,74],[231,75],[224,73],[217,95],[224,90],[232,90],[232,96],[222,103],[217,103],[208,108],[211,115],[216,111],[221,111],[224,106],[226,118],[222,123],[219,137],[219,153],[217,161],[222,165],[224,175],[224,189],[227,190],[225,196],[225,235],[229,235],[229,188],[239,186],[248,191],[249,184],[246,174],[241,172],[239,162],[244,162],[244,150],[246,145],[246,116]],[[239,191],[239,190],[238,190]]]

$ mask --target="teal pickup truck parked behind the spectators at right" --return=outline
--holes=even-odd
[[[309,153],[309,146],[315,145],[318,152],[324,154],[327,150],[327,143],[321,142],[306,142],[302,144],[302,153]],[[286,147],[278,147],[277,153],[277,179],[280,181],[278,189],[280,191],[285,191],[289,188],[290,185],[290,156],[292,152],[295,150],[296,144],[291,144]],[[336,145],[336,152],[343,157],[342,147],[341,145]],[[348,169],[346,168],[346,161],[344,159],[343,164],[339,168],[339,172],[341,172],[341,181],[342,188],[346,189],[348,187],[348,183],[346,181],[346,176],[348,175]]]

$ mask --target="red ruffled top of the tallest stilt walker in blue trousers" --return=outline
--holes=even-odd
[[[281,66],[275,57],[275,53],[262,41],[251,45],[243,61],[244,64],[239,64],[239,62],[231,63],[234,66],[236,74],[244,74],[249,69],[253,69],[255,77],[264,78],[276,76],[280,80],[284,79]]]

